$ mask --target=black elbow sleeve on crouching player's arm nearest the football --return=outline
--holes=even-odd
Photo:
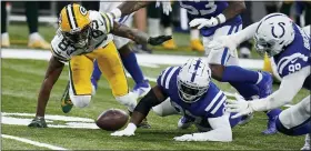
[[[156,93],[151,89],[137,104],[134,111],[140,112],[144,115],[147,115],[150,111],[150,109],[157,104],[160,104],[161,101],[158,100]]]

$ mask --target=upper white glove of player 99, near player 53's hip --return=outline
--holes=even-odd
[[[209,42],[207,49],[217,51],[228,48],[230,52],[233,52],[238,47],[238,42],[233,36],[221,36]]]

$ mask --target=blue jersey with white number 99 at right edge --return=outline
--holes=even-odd
[[[293,24],[294,40],[281,53],[273,57],[278,73],[281,78],[300,71],[302,68],[310,67],[308,61],[311,56],[310,34],[305,33],[300,27]],[[304,81],[304,88],[310,90],[310,76]]]

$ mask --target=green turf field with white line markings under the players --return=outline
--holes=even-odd
[[[18,32],[23,32],[23,38],[27,38],[26,26],[11,26],[10,28],[10,32],[13,32],[12,28],[17,30],[11,34],[12,39],[18,39]],[[20,30],[18,30],[19,28]],[[44,34],[49,32],[49,30],[44,28],[41,30],[44,31]],[[187,36],[181,36],[187,39]],[[51,38],[51,36],[49,38]],[[24,46],[21,43],[14,47]],[[167,51],[160,50],[160,52],[165,53]],[[179,53],[192,54],[192,52],[189,51],[181,51]],[[47,66],[47,61],[2,59],[2,113],[36,113],[38,91],[43,80]],[[157,78],[164,68],[165,67],[161,66],[160,68],[142,68],[142,70],[146,76]],[[110,108],[126,110],[124,107],[120,105],[113,99],[108,82],[102,79],[99,83],[99,90],[88,108],[73,108],[70,113],[62,113],[60,98],[67,84],[67,80],[68,70],[66,69],[52,90],[47,114],[80,117],[96,120],[103,110]],[[132,79],[128,81],[132,87]],[[151,82],[151,84],[154,85],[154,82]],[[223,91],[234,92],[227,83],[217,82],[217,84]],[[274,85],[274,88],[277,87],[278,85]],[[307,94],[309,94],[308,91],[300,91],[294,98],[294,102],[298,102]],[[19,122],[33,118],[28,115],[11,117],[19,118]],[[138,129],[136,135],[130,138],[112,138],[110,137],[110,132],[100,129],[30,129],[26,125],[17,124],[1,124],[1,133],[69,150],[299,150],[304,143],[304,137],[287,137],[283,134],[262,135],[261,131],[267,124],[267,117],[264,113],[255,113],[254,119],[249,124],[235,127],[233,129],[233,142],[230,143],[175,142],[172,140],[173,137],[195,132],[194,127],[189,130],[178,130],[177,122],[179,118],[178,115],[161,118],[150,112],[148,119],[152,128],[147,130]],[[63,125],[68,122],[62,120],[49,120],[48,123]],[[47,150],[47,148],[10,139],[1,138],[1,150]]]

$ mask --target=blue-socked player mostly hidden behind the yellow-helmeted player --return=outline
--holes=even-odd
[[[100,2],[100,11],[108,12],[112,10],[113,8],[117,8],[122,1],[108,1],[108,2]],[[117,22],[131,26],[131,18],[132,14],[116,19]],[[120,58],[122,60],[122,63],[127,71],[131,74],[133,78],[136,85],[132,90],[136,98],[141,98],[151,89],[149,81],[144,79],[143,73],[138,66],[137,57],[134,52],[131,50],[131,47],[129,44],[130,40],[121,37],[113,36],[113,42],[116,43],[116,47],[120,53]],[[98,81],[101,77],[101,71],[99,69],[98,62],[94,61],[93,66],[93,72],[91,77],[91,82],[93,85],[93,89],[97,90],[98,88]]]

